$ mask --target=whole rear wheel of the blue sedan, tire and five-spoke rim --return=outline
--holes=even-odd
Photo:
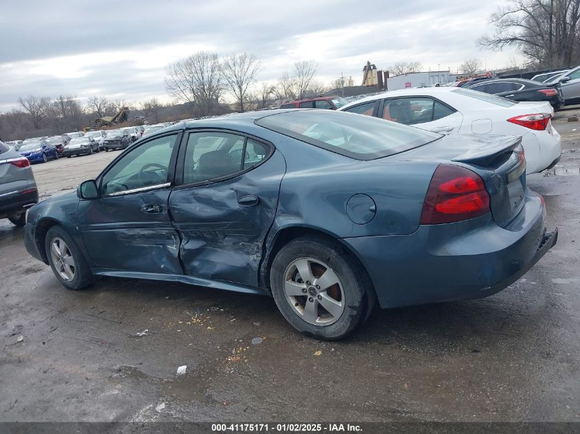
[[[274,258],[270,287],[278,309],[294,328],[332,340],[345,337],[366,319],[364,276],[338,243],[303,237],[284,245]]]

